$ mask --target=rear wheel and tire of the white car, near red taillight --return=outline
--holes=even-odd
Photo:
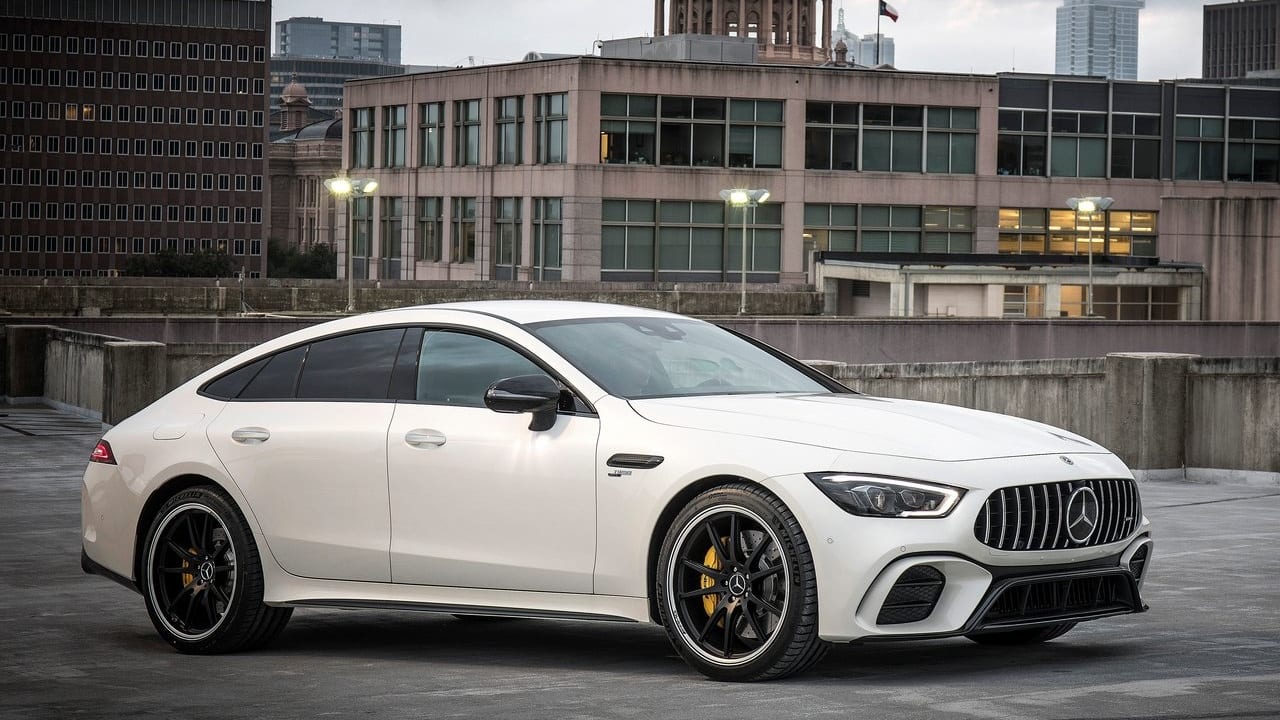
[[[214,655],[265,646],[292,607],[262,602],[262,565],[244,516],[221,489],[178,492],[147,529],[138,571],[156,632],[179,652]]]

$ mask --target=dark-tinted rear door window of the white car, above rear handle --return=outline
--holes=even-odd
[[[402,337],[404,328],[392,328],[311,343],[298,397],[385,400]]]

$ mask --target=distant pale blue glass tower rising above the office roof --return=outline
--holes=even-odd
[[[1062,0],[1057,9],[1061,76],[1138,78],[1138,12],[1146,0]]]

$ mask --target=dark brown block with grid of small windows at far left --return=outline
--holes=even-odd
[[[266,269],[264,0],[0,4],[0,268]]]

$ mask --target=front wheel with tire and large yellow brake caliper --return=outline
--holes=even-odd
[[[713,680],[785,678],[827,652],[809,543],[762,488],[723,486],[685,506],[662,543],[654,594],[676,652]]]

